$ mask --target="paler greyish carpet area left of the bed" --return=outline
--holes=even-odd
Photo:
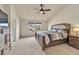
[[[6,55],[44,55],[40,45],[34,37],[21,38],[12,44],[12,50]]]

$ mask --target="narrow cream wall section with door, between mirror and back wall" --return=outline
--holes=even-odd
[[[12,37],[12,41],[18,40],[19,39],[19,22],[20,19],[17,15],[17,12],[14,8],[13,5],[10,6],[11,7],[11,12],[10,12],[10,24],[11,24],[11,37]]]

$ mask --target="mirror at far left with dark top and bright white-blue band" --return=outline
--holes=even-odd
[[[7,31],[8,28],[8,15],[0,9],[0,33],[3,33],[3,30]]]

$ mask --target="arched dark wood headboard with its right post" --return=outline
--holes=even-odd
[[[70,24],[68,23],[55,24],[51,26],[51,30],[56,32],[58,32],[59,30],[65,31],[67,33],[67,38],[69,39]]]

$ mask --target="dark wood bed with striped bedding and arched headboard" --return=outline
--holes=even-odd
[[[70,24],[68,23],[55,24],[51,26],[50,31],[37,31],[35,33],[35,38],[39,42],[42,49],[45,50],[45,48],[54,45],[68,43],[69,32],[70,32]]]

